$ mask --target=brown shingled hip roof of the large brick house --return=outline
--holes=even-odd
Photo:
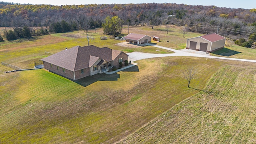
[[[91,67],[97,60],[114,60],[122,51],[110,48],[98,48],[97,46],[75,46],[52,54],[42,60],[67,70],[76,71]],[[122,52],[124,53],[124,52]],[[125,53],[124,53],[125,54]]]

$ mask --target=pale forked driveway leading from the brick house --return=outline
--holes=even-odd
[[[210,54],[196,54],[192,52],[186,52],[186,50],[174,50],[172,48],[166,48],[163,46],[154,46],[166,50],[173,51],[174,53],[172,54],[148,54],[144,52],[131,52],[127,53],[129,55],[129,60],[136,61],[136,60],[142,60],[146,58],[157,58],[157,57],[166,57],[166,56],[194,56],[194,57],[202,57],[202,58],[218,58],[218,59],[223,59],[223,60],[238,60],[238,61],[245,61],[245,62],[256,62],[256,60],[246,60],[246,59],[240,59],[240,58],[226,58],[226,57],[218,57],[218,56],[210,56]],[[198,52],[200,53],[200,52]]]

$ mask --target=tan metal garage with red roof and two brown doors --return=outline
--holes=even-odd
[[[187,39],[186,49],[214,52],[225,46],[226,38],[218,34],[207,34],[204,36],[198,36],[195,38]]]

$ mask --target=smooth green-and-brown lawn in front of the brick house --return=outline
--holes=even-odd
[[[137,68],[116,76],[98,74],[83,79],[84,83],[46,70],[6,74],[11,84],[0,89],[6,94],[6,101],[1,102],[0,142],[116,142],[198,92],[187,88],[182,75],[186,66],[204,73],[191,83],[202,89],[225,64],[187,57],[137,62]],[[84,87],[86,82],[89,84]]]

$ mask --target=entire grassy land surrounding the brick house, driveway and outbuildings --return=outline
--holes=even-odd
[[[168,34],[162,28],[134,26],[129,32],[159,36],[160,46],[186,46],[186,38],[176,27]],[[199,35],[189,33],[185,37]],[[100,40],[106,36],[102,29],[90,30],[89,36],[90,44],[98,47],[156,53],[150,46],[116,45],[122,41],[111,36]],[[56,53],[87,44],[84,31],[1,42],[0,61],[32,68],[35,61],[47,56],[45,51]],[[254,59],[255,52],[248,48],[232,45],[227,49],[240,52],[226,54],[228,57]],[[170,52],[161,49],[157,53]],[[97,74],[76,82],[44,69],[5,74],[12,68],[1,65],[0,143],[254,142],[255,64],[190,57],[136,63],[138,66],[116,74]],[[197,70],[191,88],[182,75],[187,66]]]

